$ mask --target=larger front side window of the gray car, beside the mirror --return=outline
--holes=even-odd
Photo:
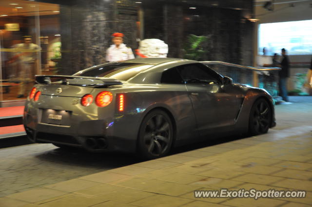
[[[219,84],[220,77],[217,73],[202,64],[187,64],[177,67],[186,84]]]

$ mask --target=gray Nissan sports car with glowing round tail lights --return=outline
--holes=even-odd
[[[270,94],[193,60],[130,59],[74,75],[37,75],[36,83],[25,130],[33,142],[58,147],[153,159],[173,146],[275,126]]]

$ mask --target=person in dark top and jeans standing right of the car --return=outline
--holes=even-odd
[[[287,78],[289,78],[289,68],[290,68],[290,62],[289,58],[286,55],[285,48],[282,49],[282,56],[283,59],[281,61],[281,68],[282,70],[279,71],[279,94],[282,96],[283,101],[288,102],[288,96],[287,96]]]

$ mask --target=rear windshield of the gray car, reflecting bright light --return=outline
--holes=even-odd
[[[141,71],[153,65],[130,62],[113,62],[78,72],[74,75],[90,77],[110,77],[117,80],[127,81]]]

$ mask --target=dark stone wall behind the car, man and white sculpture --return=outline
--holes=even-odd
[[[44,0],[49,2],[49,0]],[[69,0],[60,3],[61,74],[70,75],[105,62],[111,34],[137,49],[138,8],[144,16],[143,38],[159,38],[169,46],[168,57],[183,58],[189,34],[207,36],[202,60],[253,64],[253,0]],[[195,10],[189,7],[195,5]]]

